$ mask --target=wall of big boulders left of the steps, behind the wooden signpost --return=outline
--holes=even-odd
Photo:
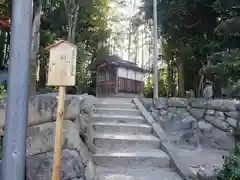
[[[6,100],[2,102],[6,104]],[[93,180],[96,175],[91,160],[92,152],[84,137],[94,104],[97,102],[97,98],[86,94],[67,95],[65,98],[62,180]],[[3,129],[5,124],[4,103],[0,112],[0,129]],[[29,100],[26,179],[51,179],[56,109],[56,94],[40,94]]]

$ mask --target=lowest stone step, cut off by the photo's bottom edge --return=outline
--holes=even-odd
[[[96,180],[182,180],[170,168],[156,167],[125,167],[109,168],[98,166]]]

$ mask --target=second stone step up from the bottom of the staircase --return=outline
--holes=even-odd
[[[143,167],[170,167],[170,157],[160,149],[145,149],[145,150],[112,150],[112,151],[97,151],[93,155],[93,161],[96,165],[116,167],[116,166],[137,166]]]

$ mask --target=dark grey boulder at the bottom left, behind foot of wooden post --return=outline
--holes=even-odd
[[[27,158],[28,180],[49,180],[52,174],[53,153],[39,154]],[[63,150],[61,157],[60,179],[85,179],[84,165],[76,151]]]

